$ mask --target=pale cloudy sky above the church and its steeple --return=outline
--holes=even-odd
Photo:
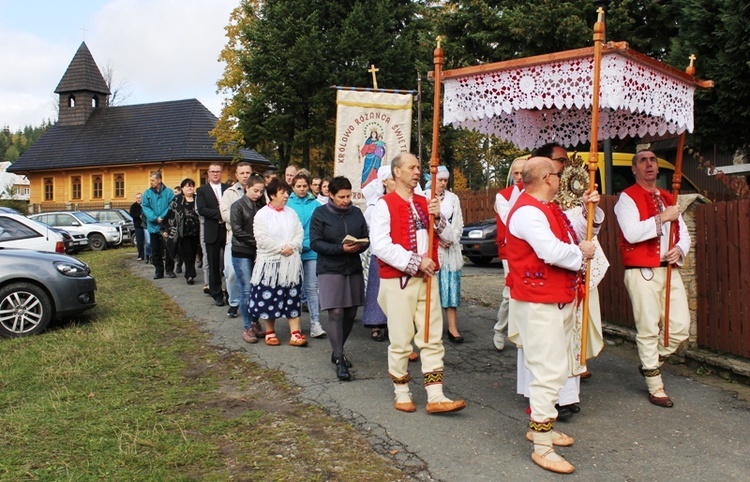
[[[55,87],[85,40],[126,104],[196,98],[216,116],[238,0],[0,0],[0,127],[57,120]],[[85,30],[83,30],[85,29]]]

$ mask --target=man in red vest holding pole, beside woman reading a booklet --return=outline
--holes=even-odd
[[[378,303],[388,318],[388,373],[396,393],[396,410],[414,412],[409,391],[409,355],[412,343],[419,348],[427,390],[427,413],[456,412],[466,406],[463,400],[450,400],[443,394],[443,314],[438,280],[431,282],[430,306],[426,306],[426,277],[437,274],[438,237],[453,239],[440,214],[437,199],[427,202],[414,193],[419,184],[419,160],[401,153],[391,162],[396,189],[383,196],[373,209],[370,241],[380,266]],[[428,247],[429,215],[435,216],[435,236]],[[428,257],[429,253],[429,257]],[[429,342],[424,342],[425,311],[430,313]]]

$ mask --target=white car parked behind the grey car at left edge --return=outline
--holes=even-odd
[[[59,232],[20,214],[0,213],[0,247],[65,253]]]

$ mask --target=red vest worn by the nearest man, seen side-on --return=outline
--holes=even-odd
[[[555,237],[564,243],[573,244],[570,240],[570,229],[561,226],[561,221],[567,219],[562,212],[561,219],[558,219],[552,205],[544,204],[526,193],[521,194],[510,210],[508,224],[513,214],[523,206],[534,206],[539,209],[546,216]],[[510,231],[506,239],[508,252],[512,253],[508,258],[510,269],[505,279],[510,288],[511,298],[531,303],[570,303],[575,299],[580,281],[577,271],[545,263],[539,259],[529,243],[513,236]]]

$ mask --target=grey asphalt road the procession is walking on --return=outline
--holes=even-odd
[[[135,256],[134,256],[135,257]],[[153,268],[135,260],[135,273],[151,279]],[[497,268],[497,267],[495,267]],[[498,276],[499,270],[483,270]],[[472,276],[481,275],[480,271]],[[467,274],[469,274],[467,273]],[[489,279],[489,278],[488,278]],[[526,401],[515,393],[516,350],[498,352],[492,344],[496,306],[464,304],[459,326],[466,338],[461,345],[446,339],[445,391],[464,398],[468,407],[449,415],[428,415],[419,363],[413,363],[412,393],[417,412],[393,408],[393,390],[387,373],[387,342],[369,339],[357,325],[347,342],[354,364],[353,381],[336,379],[326,339],[310,339],[306,348],[288,346],[285,322],[277,322],[279,347],[242,341],[242,321],[226,316],[184,279],[162,279],[163,289],[188,316],[211,333],[214,343],[240,350],[261,366],[284,371],[301,387],[304,401],[324,407],[365,434],[375,450],[390,458],[418,480],[494,481],[558,480],[531,461],[532,446],[525,439]],[[361,314],[361,310],[360,310]],[[326,317],[321,317],[324,327]],[[309,323],[303,318],[304,331]],[[667,367],[664,379],[675,401],[671,409],[651,405],[638,374],[631,346],[609,344],[590,363],[593,378],[581,389],[582,411],[557,428],[575,438],[572,447],[559,449],[573,465],[569,480],[586,481],[721,481],[750,480],[748,434],[750,402],[738,397],[732,385],[722,387],[697,379],[684,367]],[[747,393],[746,387],[742,387]]]

